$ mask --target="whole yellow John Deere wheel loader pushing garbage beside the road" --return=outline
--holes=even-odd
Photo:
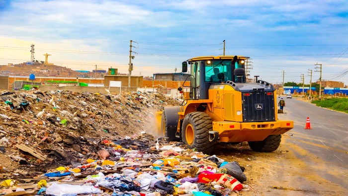
[[[181,106],[165,107],[157,113],[159,133],[205,153],[218,141],[248,141],[254,151],[276,150],[281,134],[293,128],[293,121],[278,120],[272,84],[247,82],[248,59],[206,56],[183,62],[182,72],[187,72],[190,65],[190,74],[183,83],[190,89],[189,98]]]

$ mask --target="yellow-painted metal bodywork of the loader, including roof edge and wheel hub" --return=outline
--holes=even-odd
[[[209,59],[233,59],[234,56],[206,56],[195,57],[188,61],[199,61]],[[249,59],[249,57],[238,56],[238,59]],[[294,127],[293,121],[279,121],[276,107],[274,114],[276,121],[267,122],[243,122],[242,92],[235,90],[231,85],[221,83],[212,85],[209,89],[209,99],[185,100],[184,106],[179,107],[179,121],[177,132],[180,131],[180,120],[204,104],[207,113],[213,122],[213,131],[219,133],[219,141],[240,142],[240,141],[261,141],[268,135],[279,135]],[[273,92],[274,106],[276,103],[276,92]],[[205,105],[206,104],[206,105]],[[158,124],[161,125],[161,113],[157,113]],[[187,142],[193,142],[193,128],[186,128],[186,135],[183,135]],[[190,143],[189,143],[190,144]]]

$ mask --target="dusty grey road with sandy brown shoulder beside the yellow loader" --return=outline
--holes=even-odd
[[[278,118],[293,120],[294,129],[278,150],[259,153],[241,145],[220,153],[246,166],[245,184],[252,189],[242,196],[348,196],[348,114],[283,98],[285,113]],[[304,129],[307,117],[311,130]]]

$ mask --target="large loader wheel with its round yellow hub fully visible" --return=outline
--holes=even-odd
[[[209,131],[213,131],[213,124],[204,112],[192,112],[185,116],[182,123],[182,141],[188,148],[209,153],[215,142],[209,141]]]

